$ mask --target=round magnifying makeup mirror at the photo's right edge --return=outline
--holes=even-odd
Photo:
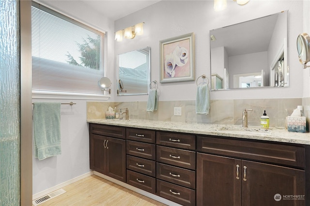
[[[310,61],[310,36],[307,33],[301,33],[297,37],[297,52],[299,62],[306,69],[307,63]]]

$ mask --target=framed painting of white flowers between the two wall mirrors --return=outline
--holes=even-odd
[[[160,43],[160,83],[195,80],[194,32]]]

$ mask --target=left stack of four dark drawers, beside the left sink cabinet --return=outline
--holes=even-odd
[[[155,131],[126,129],[127,184],[156,193]]]

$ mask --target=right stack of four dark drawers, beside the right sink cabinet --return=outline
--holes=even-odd
[[[184,206],[196,203],[196,136],[156,132],[156,193]]]

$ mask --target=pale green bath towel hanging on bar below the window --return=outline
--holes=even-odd
[[[34,157],[39,160],[62,153],[60,109],[61,103],[34,103]]]

